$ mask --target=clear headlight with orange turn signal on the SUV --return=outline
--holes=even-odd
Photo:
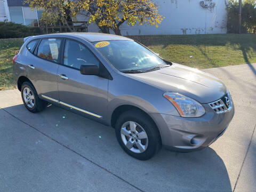
[[[205,114],[204,107],[194,99],[179,93],[167,92],[164,97],[179,111],[182,117],[201,117]]]

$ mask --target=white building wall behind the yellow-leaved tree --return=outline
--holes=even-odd
[[[203,9],[202,0],[155,0],[158,11],[165,17],[158,28],[150,25],[120,27],[122,35],[182,35],[182,34],[225,34],[227,33],[226,0],[212,0],[213,10]],[[87,19],[80,15],[78,21]],[[95,23],[89,32],[100,32]],[[113,31],[111,31],[113,33]]]

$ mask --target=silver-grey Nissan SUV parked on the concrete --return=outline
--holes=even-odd
[[[112,126],[125,152],[141,160],[162,145],[178,151],[209,146],[234,116],[218,78],[166,61],[122,36],[27,37],[13,63],[29,111],[52,103]]]

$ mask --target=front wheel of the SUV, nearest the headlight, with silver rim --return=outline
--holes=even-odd
[[[139,110],[125,111],[117,119],[115,130],[119,145],[134,158],[147,160],[161,148],[155,123]]]

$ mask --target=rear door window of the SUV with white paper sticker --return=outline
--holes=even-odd
[[[38,46],[37,56],[50,61],[58,61],[61,39],[42,39]]]

